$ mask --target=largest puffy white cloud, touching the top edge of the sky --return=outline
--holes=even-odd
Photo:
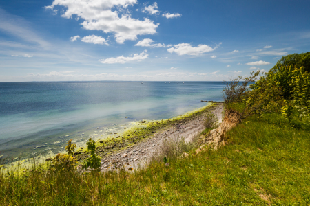
[[[81,25],[85,30],[112,32],[118,43],[124,43],[125,40],[136,40],[137,35],[155,34],[159,25],[147,18],[143,21],[132,19],[128,13],[118,16],[118,12],[136,3],[137,0],[54,0],[45,8],[64,7],[66,10],[61,15],[64,18],[76,15],[84,20]]]

